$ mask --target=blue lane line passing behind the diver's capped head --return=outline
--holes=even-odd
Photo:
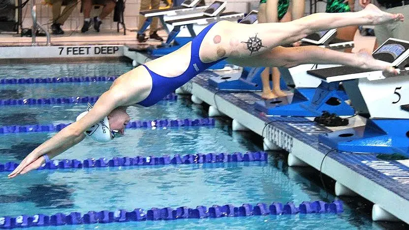
[[[71,123],[62,123],[58,125],[26,125],[26,126],[3,126],[0,127],[0,134],[19,133],[19,132],[56,132],[61,131]],[[131,121],[126,125],[127,129],[143,129],[143,128],[166,128],[166,127],[196,127],[196,126],[215,126],[214,118],[200,119],[177,119],[177,120],[143,120]]]

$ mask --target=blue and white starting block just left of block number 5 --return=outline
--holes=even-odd
[[[302,45],[318,45],[334,50],[353,48],[353,41],[334,38],[336,30],[312,34],[303,39]],[[255,109],[271,116],[315,117],[322,111],[338,115],[353,115],[354,110],[346,104],[348,96],[339,89],[339,82],[322,82],[308,75],[307,70],[332,67],[335,65],[300,65],[290,69],[280,69],[281,81],[291,78],[295,85],[294,94],[276,99],[257,101]]]

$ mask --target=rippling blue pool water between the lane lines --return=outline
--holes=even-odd
[[[122,63],[66,64],[48,71],[50,74],[79,76],[98,72],[101,66],[112,75],[129,70]],[[73,66],[71,66],[73,65]],[[121,67],[118,67],[121,66]],[[20,65],[19,71],[7,66],[14,77],[47,73],[47,65]],[[26,69],[24,69],[26,68]],[[45,68],[45,69],[43,69]],[[102,67],[101,67],[102,68]],[[59,72],[60,69],[66,72]],[[38,74],[36,71],[39,71]],[[110,72],[111,71],[111,72]],[[96,73],[97,72],[97,73]],[[20,74],[20,75],[19,75]],[[5,76],[6,74],[3,73]],[[99,74],[101,75],[101,74]],[[103,75],[103,74],[102,74]],[[1,86],[1,90],[16,90],[22,97],[55,97],[103,92],[109,83],[91,84],[35,84],[30,86]],[[91,93],[90,93],[91,92]],[[0,126],[17,124],[58,124],[72,122],[86,109],[85,104],[4,106],[0,110]],[[203,118],[201,105],[189,99],[161,101],[151,108],[130,108],[132,120]],[[110,143],[96,143],[85,139],[66,151],[58,159],[112,158],[132,156],[160,156],[195,153],[232,153],[260,151],[261,141],[252,132],[232,132],[228,123],[218,120],[215,127],[168,129],[131,129],[126,135]],[[36,146],[55,133],[21,133],[1,135],[0,162],[21,161]],[[0,176],[0,217],[21,214],[76,211],[117,210],[152,207],[179,207],[213,204],[273,201],[334,200],[299,171],[287,167],[283,157],[272,153],[268,163],[250,164],[193,164],[139,166],[100,169],[32,171],[15,179]],[[83,226],[47,227],[47,229],[381,229],[355,206],[345,206],[341,214],[310,214],[293,216],[252,216],[220,219],[146,221],[143,223],[112,223]],[[43,229],[43,228],[36,228]]]

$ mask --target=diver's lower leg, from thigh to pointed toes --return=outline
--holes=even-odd
[[[371,70],[386,70],[398,73],[390,63],[376,60],[364,50],[358,53],[345,53],[317,46],[285,48],[278,46],[270,52],[247,59],[231,59],[227,62],[237,66],[293,67],[302,64],[336,64],[354,66]]]

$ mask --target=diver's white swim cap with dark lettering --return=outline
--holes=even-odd
[[[77,121],[83,118],[87,113],[88,111],[85,111],[85,112],[82,112],[80,115],[78,115]],[[94,140],[99,141],[99,142],[107,142],[107,141],[114,139],[114,135],[109,129],[108,117],[105,117],[103,120],[99,121],[98,123],[90,127],[87,131],[85,131],[85,134],[87,136],[91,136]]]

